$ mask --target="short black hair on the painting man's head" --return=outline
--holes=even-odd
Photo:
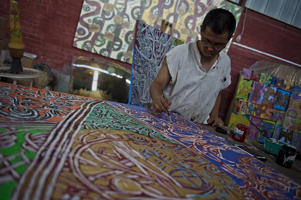
[[[205,16],[202,24],[204,32],[207,26],[216,34],[229,32],[228,39],[231,39],[236,28],[236,19],[230,11],[216,8]]]

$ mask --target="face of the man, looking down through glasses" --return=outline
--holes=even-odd
[[[213,59],[215,58],[220,51],[227,45],[228,41],[228,32],[223,33],[223,34],[216,34],[211,29],[207,26],[205,31],[202,29],[201,26],[201,54],[205,58],[208,59]],[[206,47],[204,44],[207,46],[210,45],[209,47]],[[214,48],[216,46],[218,48],[222,47],[220,50],[217,50]]]

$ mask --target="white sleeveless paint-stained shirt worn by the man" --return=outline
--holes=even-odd
[[[200,59],[197,41],[170,50],[166,60],[172,79],[164,95],[171,100],[170,111],[193,122],[204,123],[219,91],[231,84],[231,63],[229,56],[220,52],[211,69],[206,72]]]

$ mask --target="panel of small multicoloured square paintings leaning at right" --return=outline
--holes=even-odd
[[[243,69],[229,127],[253,122],[268,137],[301,146],[301,86],[265,73]],[[252,125],[248,137],[264,143],[265,137]]]

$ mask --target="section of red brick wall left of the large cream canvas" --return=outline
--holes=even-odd
[[[35,63],[47,63],[60,71],[64,64],[71,64],[73,56],[112,60],[72,47],[82,6],[83,0],[18,1],[24,51],[37,55]],[[9,18],[9,9],[10,0],[1,1],[0,17]],[[130,64],[114,61],[131,68]]]

